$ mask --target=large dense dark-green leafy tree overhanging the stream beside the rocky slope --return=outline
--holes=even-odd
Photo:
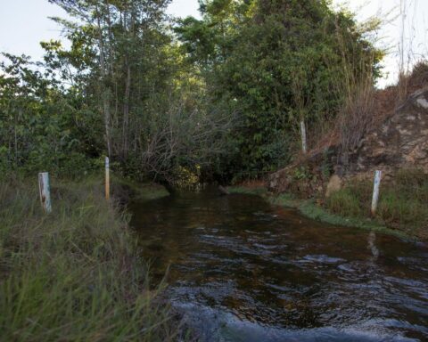
[[[343,79],[372,77],[381,57],[327,1],[216,0],[177,28],[212,106],[239,113],[221,163],[237,177],[284,166],[298,123],[312,132],[341,108]]]

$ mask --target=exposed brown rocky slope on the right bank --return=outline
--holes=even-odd
[[[331,167],[326,173],[325,166]],[[301,167],[306,168],[308,175],[299,178],[295,174]],[[411,94],[402,106],[372,127],[356,151],[343,153],[340,146],[335,145],[314,151],[270,175],[268,184],[271,191],[291,191],[310,197],[320,192],[322,179],[324,185],[329,181],[325,191],[328,197],[340,189],[341,178],[372,178],[374,170],[382,170],[383,178],[388,179],[400,168],[414,167],[428,174],[428,86]],[[324,179],[329,173],[336,176]]]

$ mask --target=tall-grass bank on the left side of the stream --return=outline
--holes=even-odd
[[[0,183],[0,336],[5,341],[172,341],[180,332],[153,290],[128,216],[97,182]]]

